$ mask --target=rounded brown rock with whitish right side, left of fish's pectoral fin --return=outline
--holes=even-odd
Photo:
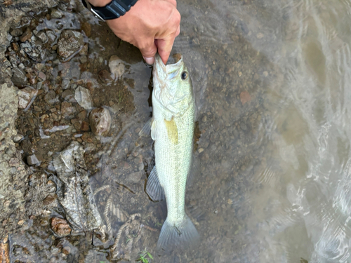
[[[106,136],[111,128],[111,115],[105,108],[96,108],[89,115],[91,130],[95,135]]]

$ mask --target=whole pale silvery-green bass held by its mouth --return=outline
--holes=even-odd
[[[166,198],[167,217],[157,248],[165,251],[194,248],[199,234],[185,213],[185,188],[192,166],[195,103],[189,71],[180,54],[176,63],[154,60],[152,119],[140,131],[154,140],[155,166],[147,178],[152,201]]]

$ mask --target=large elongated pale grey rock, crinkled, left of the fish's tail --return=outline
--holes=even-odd
[[[102,220],[95,205],[84,161],[84,149],[72,142],[53,159],[58,174],[58,201],[70,224],[85,231],[100,227]]]

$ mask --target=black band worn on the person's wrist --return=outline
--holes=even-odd
[[[87,0],[82,0],[84,6],[88,8],[100,20],[111,20],[119,18],[128,12],[138,0],[112,0],[106,6],[97,7],[90,4]]]

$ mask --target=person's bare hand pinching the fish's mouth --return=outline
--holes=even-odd
[[[89,0],[105,6],[110,0]],[[123,41],[140,49],[147,64],[159,53],[166,64],[174,39],[180,32],[180,13],[176,0],[138,0],[125,15],[107,20],[107,25]]]

